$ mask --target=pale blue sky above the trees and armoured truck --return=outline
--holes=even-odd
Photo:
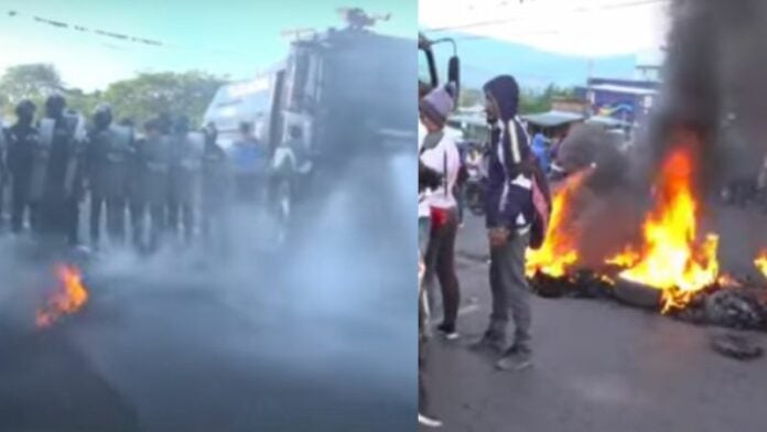
[[[361,7],[391,13],[377,25],[414,37],[415,0],[0,0],[0,71],[20,63],[53,63],[64,80],[104,88],[140,71],[202,69],[247,78],[280,61],[287,29],[342,26],[336,9]],[[8,11],[18,11],[9,17]],[[116,33],[158,40],[155,47],[36,23],[37,15]]]

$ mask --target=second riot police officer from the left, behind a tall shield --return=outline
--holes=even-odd
[[[41,149],[35,154],[33,194],[41,198],[41,229],[53,237],[78,242],[79,199],[82,198],[82,143],[77,139],[80,119],[65,112],[61,95],[45,101],[45,118],[40,122]]]

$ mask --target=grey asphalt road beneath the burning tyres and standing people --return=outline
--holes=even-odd
[[[723,250],[738,255],[750,246],[741,235],[750,242],[763,236],[764,220],[746,220],[725,212],[720,222],[734,234]],[[475,218],[460,231],[462,337],[431,344],[428,379],[441,430],[764,431],[767,357],[722,357],[709,346],[721,330],[616,303],[534,298],[534,367],[496,371],[494,358],[466,347],[484,331],[490,304],[484,236]],[[755,337],[767,347],[766,335]]]

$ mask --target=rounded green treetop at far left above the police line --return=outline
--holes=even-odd
[[[0,78],[0,94],[9,105],[15,105],[24,98],[40,102],[48,95],[63,90],[64,84],[58,71],[51,64],[11,66]]]

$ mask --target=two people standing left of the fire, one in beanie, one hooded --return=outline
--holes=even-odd
[[[520,370],[532,364],[530,290],[525,277],[525,252],[540,246],[550,214],[545,169],[531,148],[518,117],[519,87],[514,77],[498,76],[485,87],[489,140],[486,156],[485,217],[490,246],[489,288],[493,306],[483,337],[472,349],[498,356],[496,366]],[[437,333],[458,336],[461,303],[455,270],[462,170],[455,141],[444,133],[453,109],[451,87],[433,89],[420,100],[423,130],[419,137],[419,249],[422,277],[419,285],[419,422],[436,428],[442,422],[430,412],[424,368],[428,360],[430,295],[439,282],[442,322]],[[476,163],[477,161],[474,161]],[[507,338],[509,321],[514,337]],[[510,342],[510,343],[509,343]]]

